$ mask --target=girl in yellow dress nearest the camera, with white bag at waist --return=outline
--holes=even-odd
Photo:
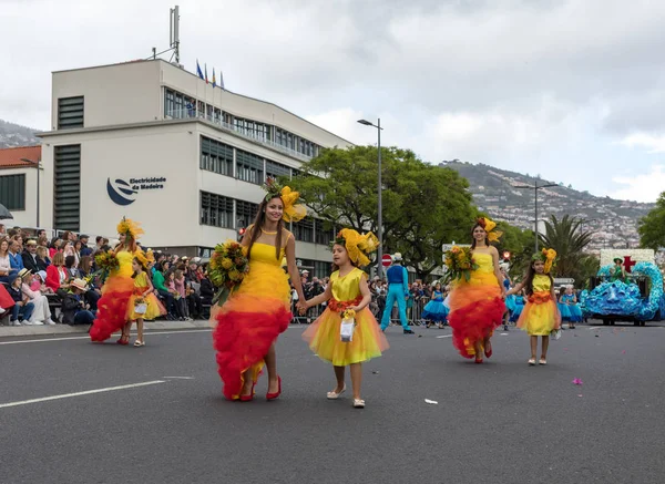
[[[388,340],[368,308],[371,294],[367,274],[359,269],[369,264],[367,255],[377,248],[378,240],[371,233],[360,235],[349,228],[340,230],[332,246],[332,262],[338,270],[330,275],[326,291],[309,299],[300,308],[304,312],[305,309],[328,301],[326,311],[303,333],[303,339],[319,358],[332,363],[337,387],[328,392],[328,400],[337,400],[346,391],[345,369],[347,365],[351,367],[356,409],[365,408],[365,400],[360,398],[362,362],[380,357],[381,351],[388,349]],[[345,312],[355,318],[350,341],[341,340]]]

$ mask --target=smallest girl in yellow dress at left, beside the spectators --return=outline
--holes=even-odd
[[[127,305],[127,323],[123,328],[123,337],[129,341],[132,321],[136,321],[136,341],[134,341],[134,346],[139,348],[145,346],[145,340],[143,339],[143,320],[152,320],[164,316],[166,315],[166,309],[154,295],[152,281],[147,277],[149,257],[141,250],[135,254],[132,260],[134,291]]]

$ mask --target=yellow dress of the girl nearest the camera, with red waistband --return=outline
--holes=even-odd
[[[358,268],[344,277],[339,276],[338,270],[332,272],[330,275],[332,299],[324,313],[303,333],[303,339],[309,343],[311,351],[335,367],[346,367],[378,358],[389,348],[388,340],[368,308],[356,312],[352,341],[341,341],[340,311],[362,300],[360,279],[364,277],[367,277],[367,274]]]

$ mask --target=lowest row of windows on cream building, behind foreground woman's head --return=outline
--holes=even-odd
[[[243,228],[254,223],[258,204],[238,200],[209,192],[201,192],[201,225],[221,228]],[[336,227],[305,217],[293,224],[296,240],[328,245],[332,241]]]

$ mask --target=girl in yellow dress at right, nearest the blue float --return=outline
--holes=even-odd
[[[531,337],[530,365],[535,364],[539,336],[542,339],[539,364],[548,364],[550,333],[561,328],[561,313],[556,306],[554,280],[550,274],[555,258],[556,251],[553,249],[543,249],[542,253],[535,254],[524,280],[508,292],[508,295],[518,294],[523,288],[526,291],[526,305],[518,320],[518,328],[526,331]]]

